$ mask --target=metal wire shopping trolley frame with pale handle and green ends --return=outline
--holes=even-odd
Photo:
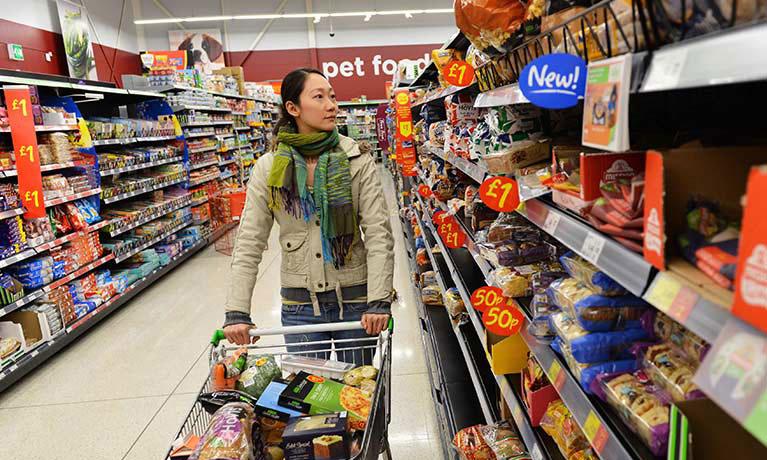
[[[357,321],[342,322],[342,323],[327,323],[307,326],[288,326],[273,329],[252,329],[250,334],[252,336],[274,336],[285,334],[310,334],[314,332],[336,332],[336,331],[352,331],[362,329],[362,326]],[[394,320],[389,321],[389,327],[376,337],[367,337],[361,339],[340,339],[340,340],[323,340],[314,342],[297,342],[290,344],[276,344],[276,345],[259,345],[258,343],[253,345],[247,345],[244,348],[248,350],[256,350],[258,354],[271,354],[275,357],[276,361],[282,366],[282,356],[286,355],[304,355],[315,356],[317,354],[327,353],[331,355],[336,353],[339,359],[342,360],[343,356],[348,353],[360,354],[374,354],[374,364],[378,367],[378,377],[376,379],[375,392],[370,404],[370,414],[368,415],[367,428],[362,437],[362,445],[360,452],[351,457],[353,460],[376,460],[379,455],[383,455],[386,460],[391,460],[391,451],[389,449],[388,429],[389,422],[391,420],[391,344],[392,336],[394,334]],[[227,347],[220,344],[224,339],[224,331],[218,330],[214,333],[211,339],[210,345],[210,366],[211,368],[218,362],[219,359],[226,357],[228,353],[239,350],[243,347]],[[354,346],[346,345],[350,342],[357,342]],[[363,345],[360,345],[359,343]],[[340,347],[339,347],[340,345]],[[291,350],[298,349],[299,351],[288,351],[288,347]],[[205,380],[200,394],[209,393],[212,390],[212,382],[210,375]],[[202,436],[205,429],[208,427],[208,423],[212,419],[212,415],[207,413],[203,409],[202,404],[199,401],[195,401],[192,410],[189,411],[184,424],[176,436],[176,440],[183,440],[187,436],[196,435]],[[171,453],[175,446],[171,446],[166,454],[166,460],[171,459]]]

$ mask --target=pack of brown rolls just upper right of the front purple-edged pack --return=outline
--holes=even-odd
[[[704,397],[692,382],[695,368],[685,357],[667,344],[643,350],[642,367],[653,382],[671,396],[674,402]]]

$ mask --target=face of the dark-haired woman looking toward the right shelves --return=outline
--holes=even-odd
[[[296,119],[299,133],[332,131],[336,127],[336,94],[321,75],[309,74],[299,96],[299,105],[288,101],[285,108]]]

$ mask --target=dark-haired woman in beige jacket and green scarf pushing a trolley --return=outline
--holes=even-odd
[[[364,327],[288,335],[286,341],[378,334],[391,314],[394,240],[375,163],[338,134],[338,103],[321,72],[294,70],[281,92],[277,148],[253,167],[232,254],[226,338],[251,343],[251,295],[274,221],[282,249],[282,324],[359,320]],[[359,344],[336,348],[350,346]],[[352,360],[362,358],[355,354]]]

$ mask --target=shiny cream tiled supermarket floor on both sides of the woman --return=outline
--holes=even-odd
[[[396,238],[392,362],[395,459],[442,457],[393,185],[382,171]],[[279,326],[279,244],[273,232],[253,318]],[[212,247],[102,321],[0,395],[0,458],[163,459],[208,370],[206,344],[223,320],[229,258]]]

